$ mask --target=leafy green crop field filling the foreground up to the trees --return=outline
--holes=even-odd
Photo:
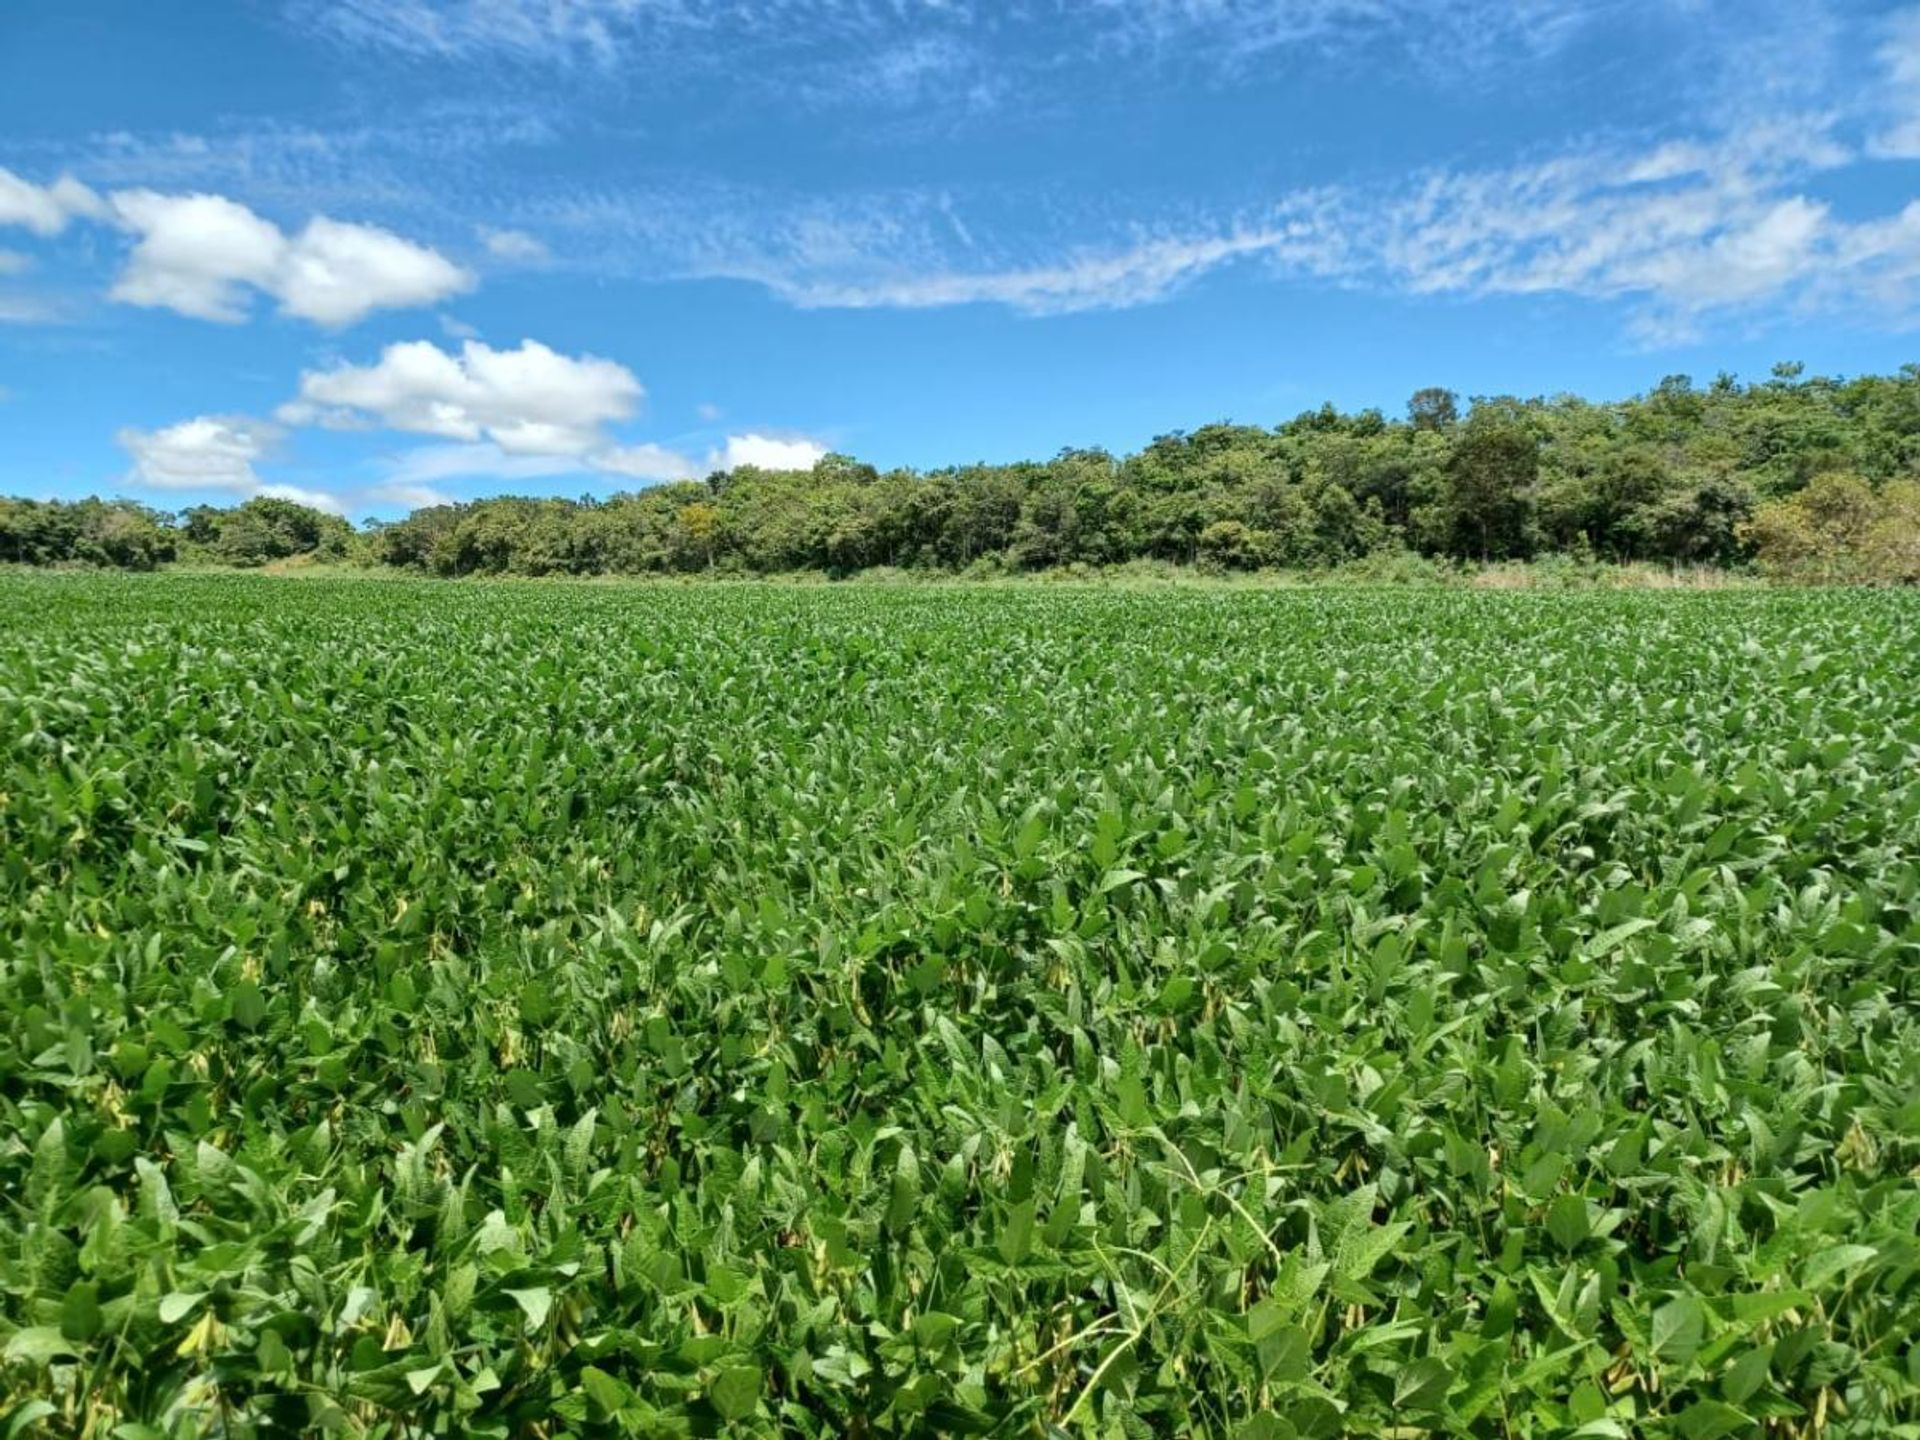
[[[0,576],[0,1425],[1912,1434],[1916,624]]]

